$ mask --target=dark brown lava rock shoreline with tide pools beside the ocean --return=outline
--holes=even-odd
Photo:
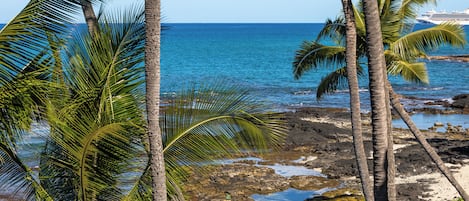
[[[460,95],[453,101],[434,101],[428,109],[411,112],[440,112],[469,114],[469,95]],[[272,169],[255,165],[253,161],[212,166],[209,174],[194,173],[185,186],[188,200],[224,200],[229,192],[233,200],[252,200],[253,194],[269,194],[289,188],[331,191],[308,200],[361,200],[360,180],[357,178],[352,146],[351,124],[347,109],[295,108],[285,113],[288,137],[283,150],[266,155],[264,164],[304,166],[321,172],[321,176],[282,177]],[[368,158],[371,159],[371,127],[368,114],[362,115],[363,134]],[[435,200],[431,178],[415,181],[405,178],[439,173],[423,148],[407,129],[394,129],[397,167],[398,200]],[[443,161],[458,167],[469,164],[469,133],[466,130],[435,132],[423,130],[429,143],[438,150]],[[303,160],[298,160],[303,159]],[[372,160],[368,160],[372,167]],[[451,200],[451,197],[447,198]],[[441,200],[441,199],[439,199]]]

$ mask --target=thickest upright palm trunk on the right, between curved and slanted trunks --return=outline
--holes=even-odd
[[[370,77],[374,197],[376,200],[388,200],[388,116],[386,111],[386,88],[384,85],[385,75],[383,70],[386,65],[377,1],[364,0],[363,11],[365,14],[368,72]]]

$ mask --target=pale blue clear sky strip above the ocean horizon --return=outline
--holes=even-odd
[[[3,0],[6,1],[6,0]],[[0,23],[8,22],[29,0],[13,0],[0,7]],[[109,8],[123,8],[143,0],[112,0]],[[324,22],[341,8],[339,0],[162,0],[164,22]],[[465,2],[465,3],[464,3]],[[461,5],[463,4],[463,5]],[[467,0],[439,0],[421,12],[469,8]],[[82,22],[83,19],[79,18]]]

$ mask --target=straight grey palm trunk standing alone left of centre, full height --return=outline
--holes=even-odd
[[[145,79],[153,201],[166,201],[166,175],[159,126],[161,1],[145,0]]]

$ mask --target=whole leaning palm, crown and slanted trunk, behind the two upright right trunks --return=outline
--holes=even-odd
[[[428,83],[428,77],[425,70],[425,63],[419,62],[418,59],[425,57],[425,51],[435,49],[442,44],[449,44],[452,46],[462,46],[465,44],[464,31],[461,27],[444,24],[432,28],[418,30],[412,32],[412,26],[409,26],[415,19],[417,13],[415,12],[416,6],[424,3],[434,2],[428,1],[380,1],[379,12],[381,13],[381,25],[383,32],[383,43],[387,49],[385,50],[386,63],[388,73],[393,75],[401,75],[404,79],[414,82]],[[358,52],[360,57],[365,55],[364,41],[364,20],[363,14],[360,10],[355,9],[358,33]],[[341,64],[344,60],[344,48],[340,47],[340,38],[345,35],[343,19],[338,18],[336,21],[329,20],[325,28],[318,37],[318,40],[313,43],[305,42],[303,50],[298,51],[294,73],[299,78],[305,71],[311,68],[320,67],[321,64]],[[330,37],[336,40],[339,46],[324,46],[319,43],[319,39]],[[362,67],[358,66],[358,73],[361,74]],[[333,92],[338,87],[341,87],[343,79],[346,79],[345,70],[338,69],[326,76],[318,87],[317,97],[322,97],[325,93]],[[391,85],[388,85],[390,97],[395,96]],[[395,104],[397,100],[393,101],[393,107],[399,112],[398,107],[400,104]],[[405,112],[402,110],[402,112]],[[408,114],[400,114],[401,116],[408,116]],[[404,118],[404,120],[406,120]],[[407,122],[410,124],[411,122]],[[411,131],[416,136],[416,139],[427,150],[431,150],[431,146],[422,136],[419,136],[418,130]],[[389,140],[391,141],[391,139]],[[391,148],[390,146],[388,148]],[[433,151],[434,152],[434,151]],[[433,161],[436,162],[438,168],[445,174],[447,178],[452,178],[448,169],[435,154],[428,152]],[[450,179],[451,181],[451,179]],[[455,180],[452,180],[455,181]],[[453,182],[452,182],[453,183]],[[453,185],[459,192],[464,189],[459,188],[457,182]]]

